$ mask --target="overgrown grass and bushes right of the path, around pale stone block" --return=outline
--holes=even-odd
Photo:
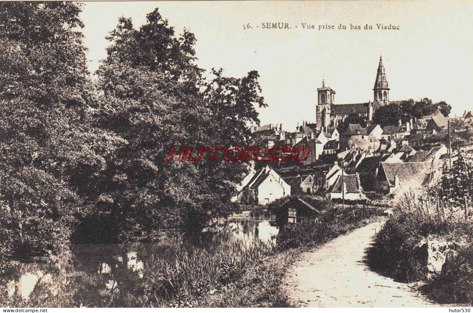
[[[401,282],[422,282],[420,291],[440,304],[473,303],[473,225],[464,210],[439,205],[426,190],[404,191],[394,201],[394,214],[368,250],[373,270]],[[422,243],[457,243],[442,269],[430,272],[429,252]],[[435,253],[435,252],[434,252]],[[452,257],[453,255],[453,257]]]

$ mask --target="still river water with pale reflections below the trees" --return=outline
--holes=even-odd
[[[172,261],[175,254],[194,247],[212,253],[221,240],[274,243],[278,227],[271,223],[232,219],[225,229],[194,236],[175,234],[154,243],[75,245],[55,262],[23,263],[0,277],[0,306],[101,307],[118,291],[138,297],[149,287],[146,278],[152,276],[158,260]],[[114,305],[127,303],[116,297]]]

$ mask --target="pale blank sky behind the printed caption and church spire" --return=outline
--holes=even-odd
[[[232,77],[259,72],[268,104],[257,109],[262,125],[282,123],[294,131],[298,122],[315,122],[322,79],[335,90],[335,104],[373,100],[380,55],[390,100],[446,101],[450,116],[473,110],[473,1],[86,2],[81,18],[89,69],[105,58],[105,36],[119,17],[131,17],[139,28],[155,8],[176,35],[184,27],[194,33],[201,68],[223,68]],[[263,28],[268,22],[290,28]],[[373,29],[363,29],[367,24]],[[335,29],[319,30],[331,25]]]

